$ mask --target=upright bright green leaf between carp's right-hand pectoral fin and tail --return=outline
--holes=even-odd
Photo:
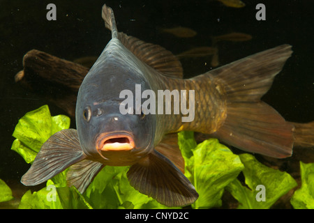
[[[219,144],[218,139],[205,140],[196,147],[195,139],[190,132],[179,132],[178,139],[186,162],[185,175],[200,195],[192,207],[221,206],[225,186],[244,169],[239,156]],[[190,149],[192,155],[188,153]]]

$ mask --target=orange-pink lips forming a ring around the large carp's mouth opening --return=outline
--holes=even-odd
[[[126,138],[128,142],[119,143],[117,145],[106,145],[105,142],[110,139]],[[133,135],[128,132],[110,132],[99,134],[96,139],[97,151],[130,151],[135,148],[135,141]]]

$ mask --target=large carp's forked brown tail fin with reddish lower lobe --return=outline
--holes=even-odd
[[[252,153],[292,155],[293,125],[260,100],[291,54],[281,45],[209,72],[227,93],[227,118],[214,137]]]

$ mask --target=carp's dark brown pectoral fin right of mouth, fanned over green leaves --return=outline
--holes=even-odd
[[[157,151],[131,166],[127,176],[136,190],[165,206],[186,206],[198,198],[188,178]]]

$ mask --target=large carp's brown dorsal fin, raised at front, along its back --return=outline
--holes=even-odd
[[[127,36],[125,33],[118,33],[113,10],[106,5],[103,6],[102,17],[103,20],[105,20],[106,28],[112,31],[112,38],[118,38],[138,59],[151,68],[158,70],[158,72],[161,72],[163,75],[183,78],[181,63],[172,52],[159,45],[145,43],[133,36]]]

